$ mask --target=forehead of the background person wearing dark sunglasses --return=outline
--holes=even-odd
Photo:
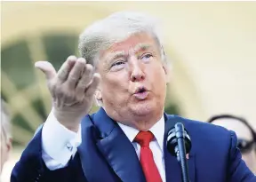
[[[227,128],[230,131],[235,131],[238,138],[252,140],[251,131],[244,123],[240,121],[237,121],[235,119],[223,118],[216,120],[213,123]]]

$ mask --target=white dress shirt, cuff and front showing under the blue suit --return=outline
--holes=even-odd
[[[140,145],[133,142],[133,139],[139,133],[138,130],[118,123],[125,135],[132,142],[138,158],[140,160]],[[149,147],[152,150],[156,167],[160,173],[163,182],[165,179],[164,168],[164,115],[149,130],[155,138],[150,142]],[[82,143],[81,126],[78,132],[69,131],[60,124],[53,112],[50,113],[44,123],[42,131],[42,157],[49,170],[57,170],[67,166],[71,157],[74,157],[77,147]]]

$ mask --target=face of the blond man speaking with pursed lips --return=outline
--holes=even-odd
[[[167,76],[152,36],[140,33],[112,44],[102,52],[98,72],[103,107],[116,121],[163,115]]]

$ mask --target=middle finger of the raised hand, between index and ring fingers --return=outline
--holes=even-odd
[[[76,84],[79,82],[81,78],[85,65],[86,61],[84,58],[79,58],[76,60],[75,66],[71,69],[68,75],[67,84],[69,88],[76,88]]]

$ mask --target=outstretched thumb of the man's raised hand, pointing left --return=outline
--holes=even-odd
[[[52,64],[48,61],[37,61],[35,67],[44,72],[46,79],[49,81],[56,75],[56,70],[52,67]]]

